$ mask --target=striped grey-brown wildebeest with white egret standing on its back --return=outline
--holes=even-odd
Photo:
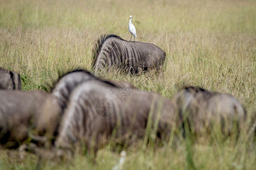
[[[102,35],[93,49],[92,66],[95,73],[114,67],[137,74],[144,70],[159,70],[165,58],[164,50],[154,44],[126,41],[117,35]]]

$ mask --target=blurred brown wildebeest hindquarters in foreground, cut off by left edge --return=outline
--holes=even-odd
[[[42,91],[0,90],[0,143],[18,147],[28,131],[40,121],[39,114],[49,95]]]

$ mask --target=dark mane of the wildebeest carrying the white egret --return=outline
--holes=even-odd
[[[92,67],[94,67],[96,65],[96,61],[98,59],[98,55],[101,52],[101,48],[102,45],[104,44],[104,42],[110,38],[117,38],[120,40],[123,40],[121,37],[114,35],[114,34],[109,34],[109,35],[101,35],[100,38],[97,40],[97,42],[94,44],[94,48],[92,50],[92,59],[93,59],[93,63],[92,63]],[[126,41],[126,40],[124,40]]]

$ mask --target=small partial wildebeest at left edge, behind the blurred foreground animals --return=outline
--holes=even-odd
[[[21,90],[21,81],[18,73],[0,67],[0,90]]]

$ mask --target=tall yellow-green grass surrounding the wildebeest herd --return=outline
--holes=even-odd
[[[18,72],[23,90],[44,90],[58,71],[89,69],[92,47],[101,34],[126,40],[129,16],[137,41],[151,42],[167,53],[161,75],[105,73],[141,90],[172,99],[177,89],[193,85],[226,92],[245,105],[248,122],[256,114],[256,2],[249,1],[0,1],[0,66]],[[127,148],[125,169],[254,169],[255,137],[236,141],[214,137],[174,139],[171,145],[143,149],[143,141]],[[69,162],[45,162],[44,169],[110,169],[118,162],[111,146]],[[15,151],[1,150],[0,169],[34,169],[38,158],[21,162]]]

